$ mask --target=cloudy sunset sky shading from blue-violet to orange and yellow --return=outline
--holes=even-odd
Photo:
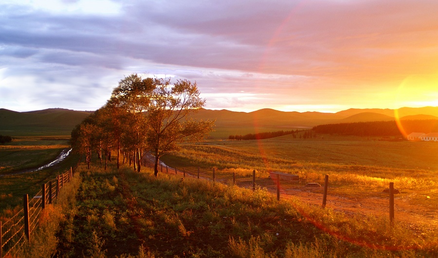
[[[0,108],[95,110],[131,73],[206,108],[438,106],[437,0],[1,0]]]

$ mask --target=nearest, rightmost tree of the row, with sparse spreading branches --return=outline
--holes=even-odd
[[[160,157],[178,150],[178,143],[200,141],[213,131],[214,121],[189,117],[205,104],[199,94],[196,83],[188,80],[178,80],[171,86],[170,79],[154,79],[146,107],[146,141],[155,156],[155,176]]]

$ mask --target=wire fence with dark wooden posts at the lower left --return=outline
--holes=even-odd
[[[61,189],[69,183],[75,168],[59,174],[41,185],[41,189],[29,200],[23,196],[23,208],[5,222],[0,221],[0,258],[14,257],[20,247],[31,243],[32,232],[37,228],[46,205],[58,198]]]

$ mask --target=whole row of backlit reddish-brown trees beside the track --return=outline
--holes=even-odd
[[[147,153],[155,157],[154,174],[160,158],[179,149],[178,143],[200,141],[213,129],[213,120],[192,120],[205,100],[199,97],[196,83],[170,79],[146,78],[131,74],[114,88],[110,100],[72,131],[73,151],[85,155],[90,168],[91,154],[96,152],[105,168],[111,152],[131,161],[140,172],[141,159]]]

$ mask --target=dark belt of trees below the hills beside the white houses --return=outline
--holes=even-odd
[[[400,121],[407,134],[412,132],[438,132],[438,120],[402,120]],[[354,122],[322,124],[312,128],[320,134],[337,134],[352,136],[402,136],[395,121]]]

